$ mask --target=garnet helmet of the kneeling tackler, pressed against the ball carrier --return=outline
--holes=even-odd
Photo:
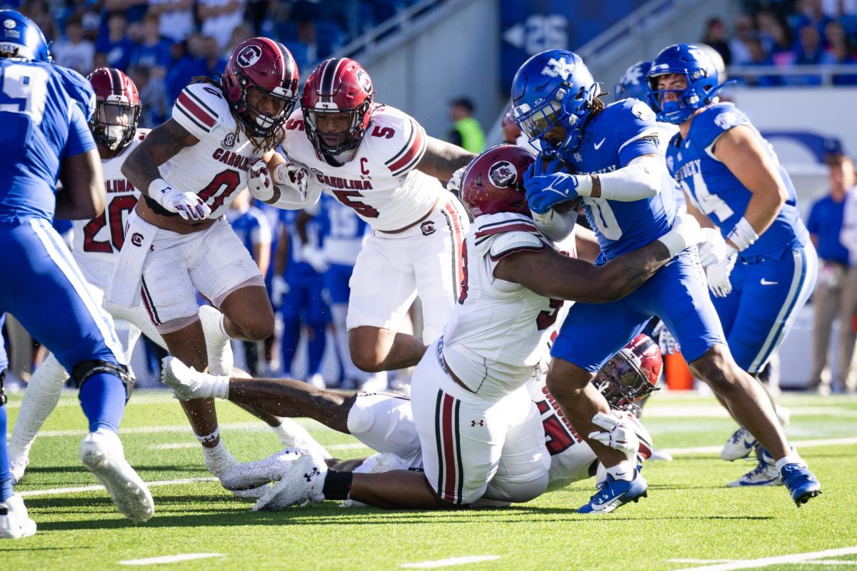
[[[461,177],[461,201],[470,215],[518,212],[531,216],[524,171],[535,160],[517,145],[494,146],[473,159]]]

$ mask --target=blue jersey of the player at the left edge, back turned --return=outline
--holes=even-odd
[[[0,221],[53,218],[63,158],[95,148],[62,69],[0,59]]]

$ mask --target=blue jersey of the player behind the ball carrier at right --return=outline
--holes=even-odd
[[[768,141],[764,140],[747,116],[734,104],[711,105],[693,117],[686,139],[682,140],[680,134],[674,136],[667,148],[667,167],[670,174],[680,182],[693,205],[710,217],[724,237],[727,236],[744,216],[752,193],[725,164],[714,157],[714,145],[721,134],[739,125],[752,128],[762,147],[776,164],[788,191],[786,203],[782,205],[774,223],[752,246],[743,250],[741,256],[780,252],[787,247],[805,244],[808,234],[800,220],[794,186],[788,173],[782,168]]]

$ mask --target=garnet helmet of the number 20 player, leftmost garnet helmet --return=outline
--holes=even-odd
[[[87,79],[95,92],[95,113],[89,120],[94,139],[111,151],[123,149],[140,121],[137,86],[117,68],[98,68]]]

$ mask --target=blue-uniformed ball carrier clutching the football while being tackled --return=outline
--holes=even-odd
[[[675,205],[672,193],[661,192],[655,114],[636,99],[606,105],[599,91],[580,57],[563,50],[530,57],[512,81],[515,120],[542,148],[524,176],[530,210],[554,237],[571,229],[573,205],[582,199],[603,264],[664,235],[674,223]],[[623,300],[572,307],[551,349],[548,388],[578,419],[580,434],[596,432],[586,419],[609,410],[603,396],[590,389],[591,378],[652,316],[677,337],[692,372],[722,396],[783,473],[794,474],[787,481],[794,501],[800,505],[818,495],[818,480],[788,447],[764,390],[729,353],[693,248]],[[645,479],[618,450],[597,441],[590,445],[608,478],[579,512],[607,513],[644,496]]]

